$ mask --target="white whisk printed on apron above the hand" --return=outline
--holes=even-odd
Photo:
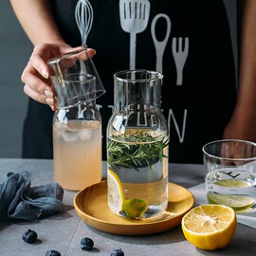
[[[88,0],[78,1],[75,18],[80,30],[82,46],[86,46],[87,37],[93,24],[93,8]]]

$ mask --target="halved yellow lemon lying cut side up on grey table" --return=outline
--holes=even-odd
[[[214,250],[226,247],[237,225],[234,210],[223,205],[202,205],[186,213],[181,221],[185,238],[193,246]]]

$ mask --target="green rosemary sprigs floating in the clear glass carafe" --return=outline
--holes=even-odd
[[[139,172],[138,168],[162,161],[163,149],[168,146],[168,138],[152,137],[138,130],[132,135],[113,136],[108,144],[108,164],[110,168],[127,167]]]

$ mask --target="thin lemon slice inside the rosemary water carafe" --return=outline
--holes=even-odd
[[[119,213],[124,202],[124,192],[118,174],[107,170],[108,205],[112,211]]]

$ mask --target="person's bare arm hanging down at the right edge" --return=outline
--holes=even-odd
[[[225,138],[256,141],[256,1],[243,0],[236,106]]]

